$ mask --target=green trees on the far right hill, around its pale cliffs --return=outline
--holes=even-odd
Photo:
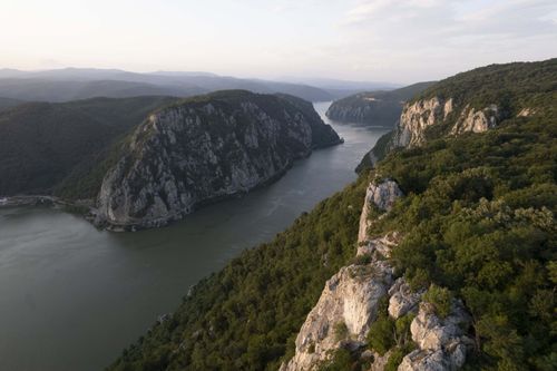
[[[557,90],[557,58],[540,62],[516,62],[491,65],[458,74],[432,85],[414,96],[410,102],[438,97],[453,100],[453,111],[442,123],[428,127],[426,139],[434,140],[449,135],[450,129],[466,107],[483,109],[498,107],[498,120],[517,117],[522,109],[530,114],[545,111],[555,106]],[[359,172],[372,167],[374,160],[383,159],[391,144],[393,131],[383,135],[363,157]]]

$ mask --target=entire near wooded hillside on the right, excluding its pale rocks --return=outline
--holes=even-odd
[[[453,299],[461,301],[471,322],[459,331],[472,339],[465,368],[555,370],[557,91],[532,82],[525,92],[515,98],[535,114],[426,140],[363,170],[274,241],[203,280],[109,369],[277,370],[294,354],[326,280],[349,263],[365,271],[369,261],[353,257],[363,191],[370,180],[390,178],[405,196],[381,218],[370,209],[370,237],[400,233],[389,262],[413,292],[430,290],[424,300],[440,321]],[[412,318],[399,323],[384,311],[358,352],[342,346],[349,330],[335,326],[339,349],[319,368],[369,370],[370,358],[360,357],[369,349],[389,354],[395,370],[417,346]]]

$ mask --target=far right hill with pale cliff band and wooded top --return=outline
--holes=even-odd
[[[557,59],[491,65],[439,81],[404,105],[393,131],[364,157],[371,166],[387,153],[426,140],[481,133],[506,119],[555,105]]]

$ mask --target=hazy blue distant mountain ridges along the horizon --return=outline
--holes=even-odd
[[[312,85],[310,82],[315,82]],[[243,79],[211,72],[129,72],[119,69],[65,68],[42,71],[0,69],[0,97],[60,102],[92,97],[187,97],[224,89],[282,92],[310,101],[339,99],[361,90],[393,88],[392,84],[307,79],[300,82]],[[1,106],[0,106],[1,109]]]

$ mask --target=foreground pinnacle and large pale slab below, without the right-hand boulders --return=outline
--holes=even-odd
[[[294,357],[282,364],[281,371],[312,370],[341,346],[352,350],[365,346],[379,301],[394,282],[393,267],[384,256],[390,256],[399,238],[398,233],[368,238],[368,209],[373,205],[388,211],[401,195],[393,180],[369,185],[361,214],[358,255],[370,255],[371,262],[342,267],[328,281],[297,334]]]

